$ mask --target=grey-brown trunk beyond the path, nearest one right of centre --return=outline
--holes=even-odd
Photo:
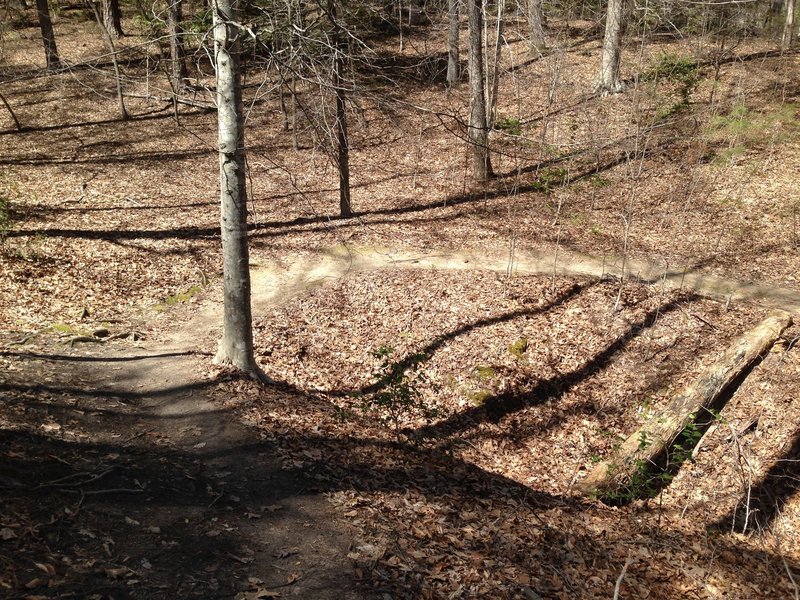
[[[492,176],[489,128],[486,122],[486,76],[483,68],[483,10],[481,0],[466,0],[469,16],[469,139],[473,148],[473,175],[477,181]]]

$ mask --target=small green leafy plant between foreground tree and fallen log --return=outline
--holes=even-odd
[[[427,378],[420,372],[420,364],[427,358],[425,353],[414,354],[403,360],[392,361],[394,349],[381,346],[371,354],[381,360],[377,374],[378,391],[363,400],[365,411],[377,412],[385,423],[391,423],[399,431],[402,421],[410,415],[421,415],[427,420],[438,416],[438,411],[429,406],[420,391]]]

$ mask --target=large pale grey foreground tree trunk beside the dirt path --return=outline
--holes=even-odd
[[[224,288],[222,339],[214,361],[262,377],[253,356],[239,30],[232,25],[236,0],[213,0],[213,10]]]

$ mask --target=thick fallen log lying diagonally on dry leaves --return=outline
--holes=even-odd
[[[637,491],[642,491],[635,488],[645,475],[643,471],[657,466],[658,459],[666,456],[681,433],[695,423],[698,413],[712,407],[791,324],[788,312],[775,311],[741,336],[666,408],[631,434],[608,460],[598,463],[578,484],[579,491],[606,499],[636,497]]]

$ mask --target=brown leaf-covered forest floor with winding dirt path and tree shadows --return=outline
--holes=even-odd
[[[131,97],[118,121],[100,41],[69,10],[57,33],[51,75],[35,29],[4,36],[0,595],[797,596],[797,325],[672,476],[620,506],[574,491],[800,306],[796,53],[626,49],[626,77],[696,57],[685,105],[669,78],[588,93],[597,42],[505,64],[520,132],[473,185],[465,92],[426,79],[420,30],[382,49],[402,85],[356,100],[351,220],[247,87],[261,385],[211,364],[213,113]],[[120,43],[157,95],[153,48]]]

